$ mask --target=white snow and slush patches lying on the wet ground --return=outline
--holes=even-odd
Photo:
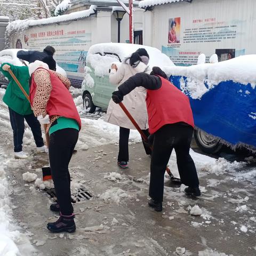
[[[5,90],[0,89],[1,98],[4,95]],[[105,113],[100,112],[94,117],[98,117],[98,119],[92,119],[90,114],[86,114],[83,109],[83,101],[81,97],[81,90],[71,88],[71,93],[74,95],[74,100],[79,111],[79,114],[82,116],[82,130],[79,134],[79,140],[77,143],[77,149],[87,150],[88,148],[101,146],[101,145],[108,145],[108,144],[115,144],[118,142],[118,133],[119,127],[115,125],[111,125],[103,121],[103,117]],[[9,121],[9,113],[7,106],[0,101],[0,130],[4,130],[4,134],[6,139],[9,137],[8,141],[10,142],[12,138],[12,129]],[[2,138],[3,140],[3,138]],[[3,140],[4,141],[4,140]],[[130,135],[130,144],[137,143],[141,141],[140,135],[137,131],[132,131]],[[8,142],[8,143],[9,143]],[[26,128],[25,138],[23,140],[23,150],[26,152],[30,150],[31,147],[34,147],[34,140],[31,134],[31,131]],[[28,151],[28,153],[30,153]],[[12,179],[8,179],[8,175],[5,172],[6,166],[13,166],[17,165],[18,162],[14,161],[10,154],[10,151],[5,153],[4,146],[0,148],[0,255],[31,255],[33,252],[33,246],[31,246],[28,237],[25,234],[22,234],[20,228],[15,224],[12,217],[12,209],[15,209],[15,206],[12,205],[10,199],[10,190],[8,188],[8,182],[12,182]],[[209,156],[201,155],[196,153],[191,149],[190,151],[191,156],[193,157],[199,178],[206,180],[207,186],[201,187],[201,191],[203,193],[202,198],[206,201],[214,201],[215,198],[226,198],[227,201],[234,204],[234,211],[237,213],[246,213],[249,217],[247,219],[241,220],[240,223],[235,220],[230,220],[231,225],[234,225],[234,232],[236,234],[252,234],[255,233],[256,228],[253,227],[252,223],[255,223],[255,207],[253,207],[250,203],[250,193],[246,193],[246,188],[244,188],[244,194],[246,196],[241,197],[238,196],[237,199],[230,197],[230,191],[227,191],[225,194],[219,194],[215,191],[215,188],[218,187],[220,184],[220,180],[207,178],[207,175],[215,174],[217,177],[223,175],[223,179],[221,182],[238,182],[241,180],[246,180],[249,182],[255,182],[256,177],[256,169],[252,168],[250,171],[245,170],[246,162],[233,162],[230,163],[223,158],[215,159]],[[87,162],[94,163],[100,162],[102,159],[106,158],[106,155],[103,151],[99,150],[95,152],[95,156],[91,156],[88,158]],[[9,158],[9,159],[8,159]],[[33,154],[29,154],[28,160],[22,160],[22,163],[26,161],[31,161],[33,158]],[[106,159],[108,160],[107,163],[113,161],[113,159]],[[116,161],[116,159],[114,159]],[[138,159],[140,161],[140,159]],[[247,162],[255,161],[254,158],[247,158]],[[178,169],[176,164],[175,152],[172,153],[172,156],[169,161],[169,167],[174,173],[176,177],[178,177]],[[29,169],[29,168],[28,168]],[[239,170],[237,172],[236,170]],[[73,170],[74,171],[74,170]],[[81,170],[77,167],[77,173],[73,173],[73,181],[71,189],[73,191],[77,190],[79,186],[83,183],[81,180]],[[39,172],[38,172],[39,173]],[[77,174],[77,176],[76,176]],[[226,176],[228,174],[228,177]],[[29,187],[31,190],[37,189],[44,189],[45,186],[52,186],[52,183],[43,183],[40,178],[36,179],[37,175],[33,172],[24,172],[23,173],[23,180],[25,182],[31,182],[29,184],[25,184],[25,187]],[[34,181],[36,179],[36,181]],[[131,179],[129,175],[125,173],[117,173],[111,171],[109,173],[102,174],[101,179],[104,179],[108,182],[113,182],[113,186],[109,186],[108,189],[103,191],[101,194],[98,195],[99,200],[105,203],[115,203],[117,205],[124,204],[127,202],[140,202],[140,197],[145,191],[148,189],[149,183],[149,174],[148,170],[140,179],[134,181],[132,186],[138,187],[138,191],[135,189],[130,189],[127,186],[130,186]],[[32,184],[32,185],[31,185]],[[181,186],[180,188],[170,188],[165,187],[165,201],[167,201],[167,205],[165,206],[165,217],[168,218],[170,221],[177,218],[175,214],[191,214],[191,215],[198,215],[199,217],[195,219],[195,221],[189,222],[194,228],[205,227],[207,228],[211,225],[212,222],[219,222],[222,220],[217,220],[213,217],[212,213],[205,209],[204,207],[198,205],[195,206],[194,203],[191,203],[189,199],[182,199],[180,198],[180,192],[183,191],[185,186]],[[206,193],[207,191],[211,190],[211,193]],[[229,195],[230,194],[230,195]],[[170,213],[167,213],[167,207],[170,207]],[[83,212],[81,210],[81,212]],[[164,214],[164,213],[163,213]],[[164,218],[164,217],[163,217]],[[120,220],[119,220],[120,222]],[[111,225],[117,225],[118,220],[113,218]],[[123,222],[120,222],[123,223]],[[124,223],[123,223],[124,224]],[[215,224],[214,224],[215,225]],[[230,223],[229,223],[230,225]],[[121,225],[122,226],[122,225]],[[124,226],[124,225],[123,225]],[[97,231],[105,229],[105,226],[94,226],[84,228],[82,231]],[[40,241],[38,245],[40,245]],[[202,241],[202,243],[204,243]],[[139,246],[140,247],[140,246]],[[184,251],[185,250],[185,251]],[[191,255],[190,252],[186,251],[183,247],[177,247],[177,250],[174,255]],[[86,254],[87,255],[87,254]],[[128,254],[127,254],[128,255]],[[133,255],[133,254],[129,254]],[[134,254],[135,255],[135,254]],[[162,255],[162,254],[161,254]],[[169,254],[163,254],[169,255]],[[225,253],[219,253],[211,248],[205,249],[204,251],[199,251],[198,256],[226,256]],[[228,255],[229,256],[229,255]]]

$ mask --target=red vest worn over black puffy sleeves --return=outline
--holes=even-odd
[[[184,122],[194,127],[188,97],[166,79],[158,90],[147,90],[148,126],[150,134],[165,124]]]

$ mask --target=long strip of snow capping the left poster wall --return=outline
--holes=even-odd
[[[48,25],[52,23],[58,23],[58,22],[64,22],[64,21],[70,21],[70,20],[78,20],[83,19],[86,17],[89,17],[90,15],[95,13],[96,6],[91,5],[90,9],[85,11],[79,11],[79,12],[73,12],[70,14],[65,15],[59,15],[57,17],[51,17],[46,19],[39,19],[39,20],[15,20],[9,23],[9,25],[6,27],[7,32],[11,32],[12,30],[22,30],[26,29],[28,27],[32,26],[38,26],[38,25]]]

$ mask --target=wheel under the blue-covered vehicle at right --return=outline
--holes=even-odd
[[[205,153],[215,154],[218,153],[223,144],[216,139],[214,136],[200,130],[194,130],[194,138],[197,146],[202,149]]]

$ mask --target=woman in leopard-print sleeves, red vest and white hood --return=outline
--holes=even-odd
[[[52,204],[50,209],[59,211],[60,218],[47,223],[47,229],[56,233],[71,233],[76,230],[76,225],[68,165],[78,140],[81,119],[69,92],[68,78],[49,69],[49,66],[53,66],[51,60],[45,61],[49,65],[38,60],[29,64],[29,97],[35,116],[40,123],[47,124],[46,132],[50,134],[49,160],[58,199],[58,203]]]

